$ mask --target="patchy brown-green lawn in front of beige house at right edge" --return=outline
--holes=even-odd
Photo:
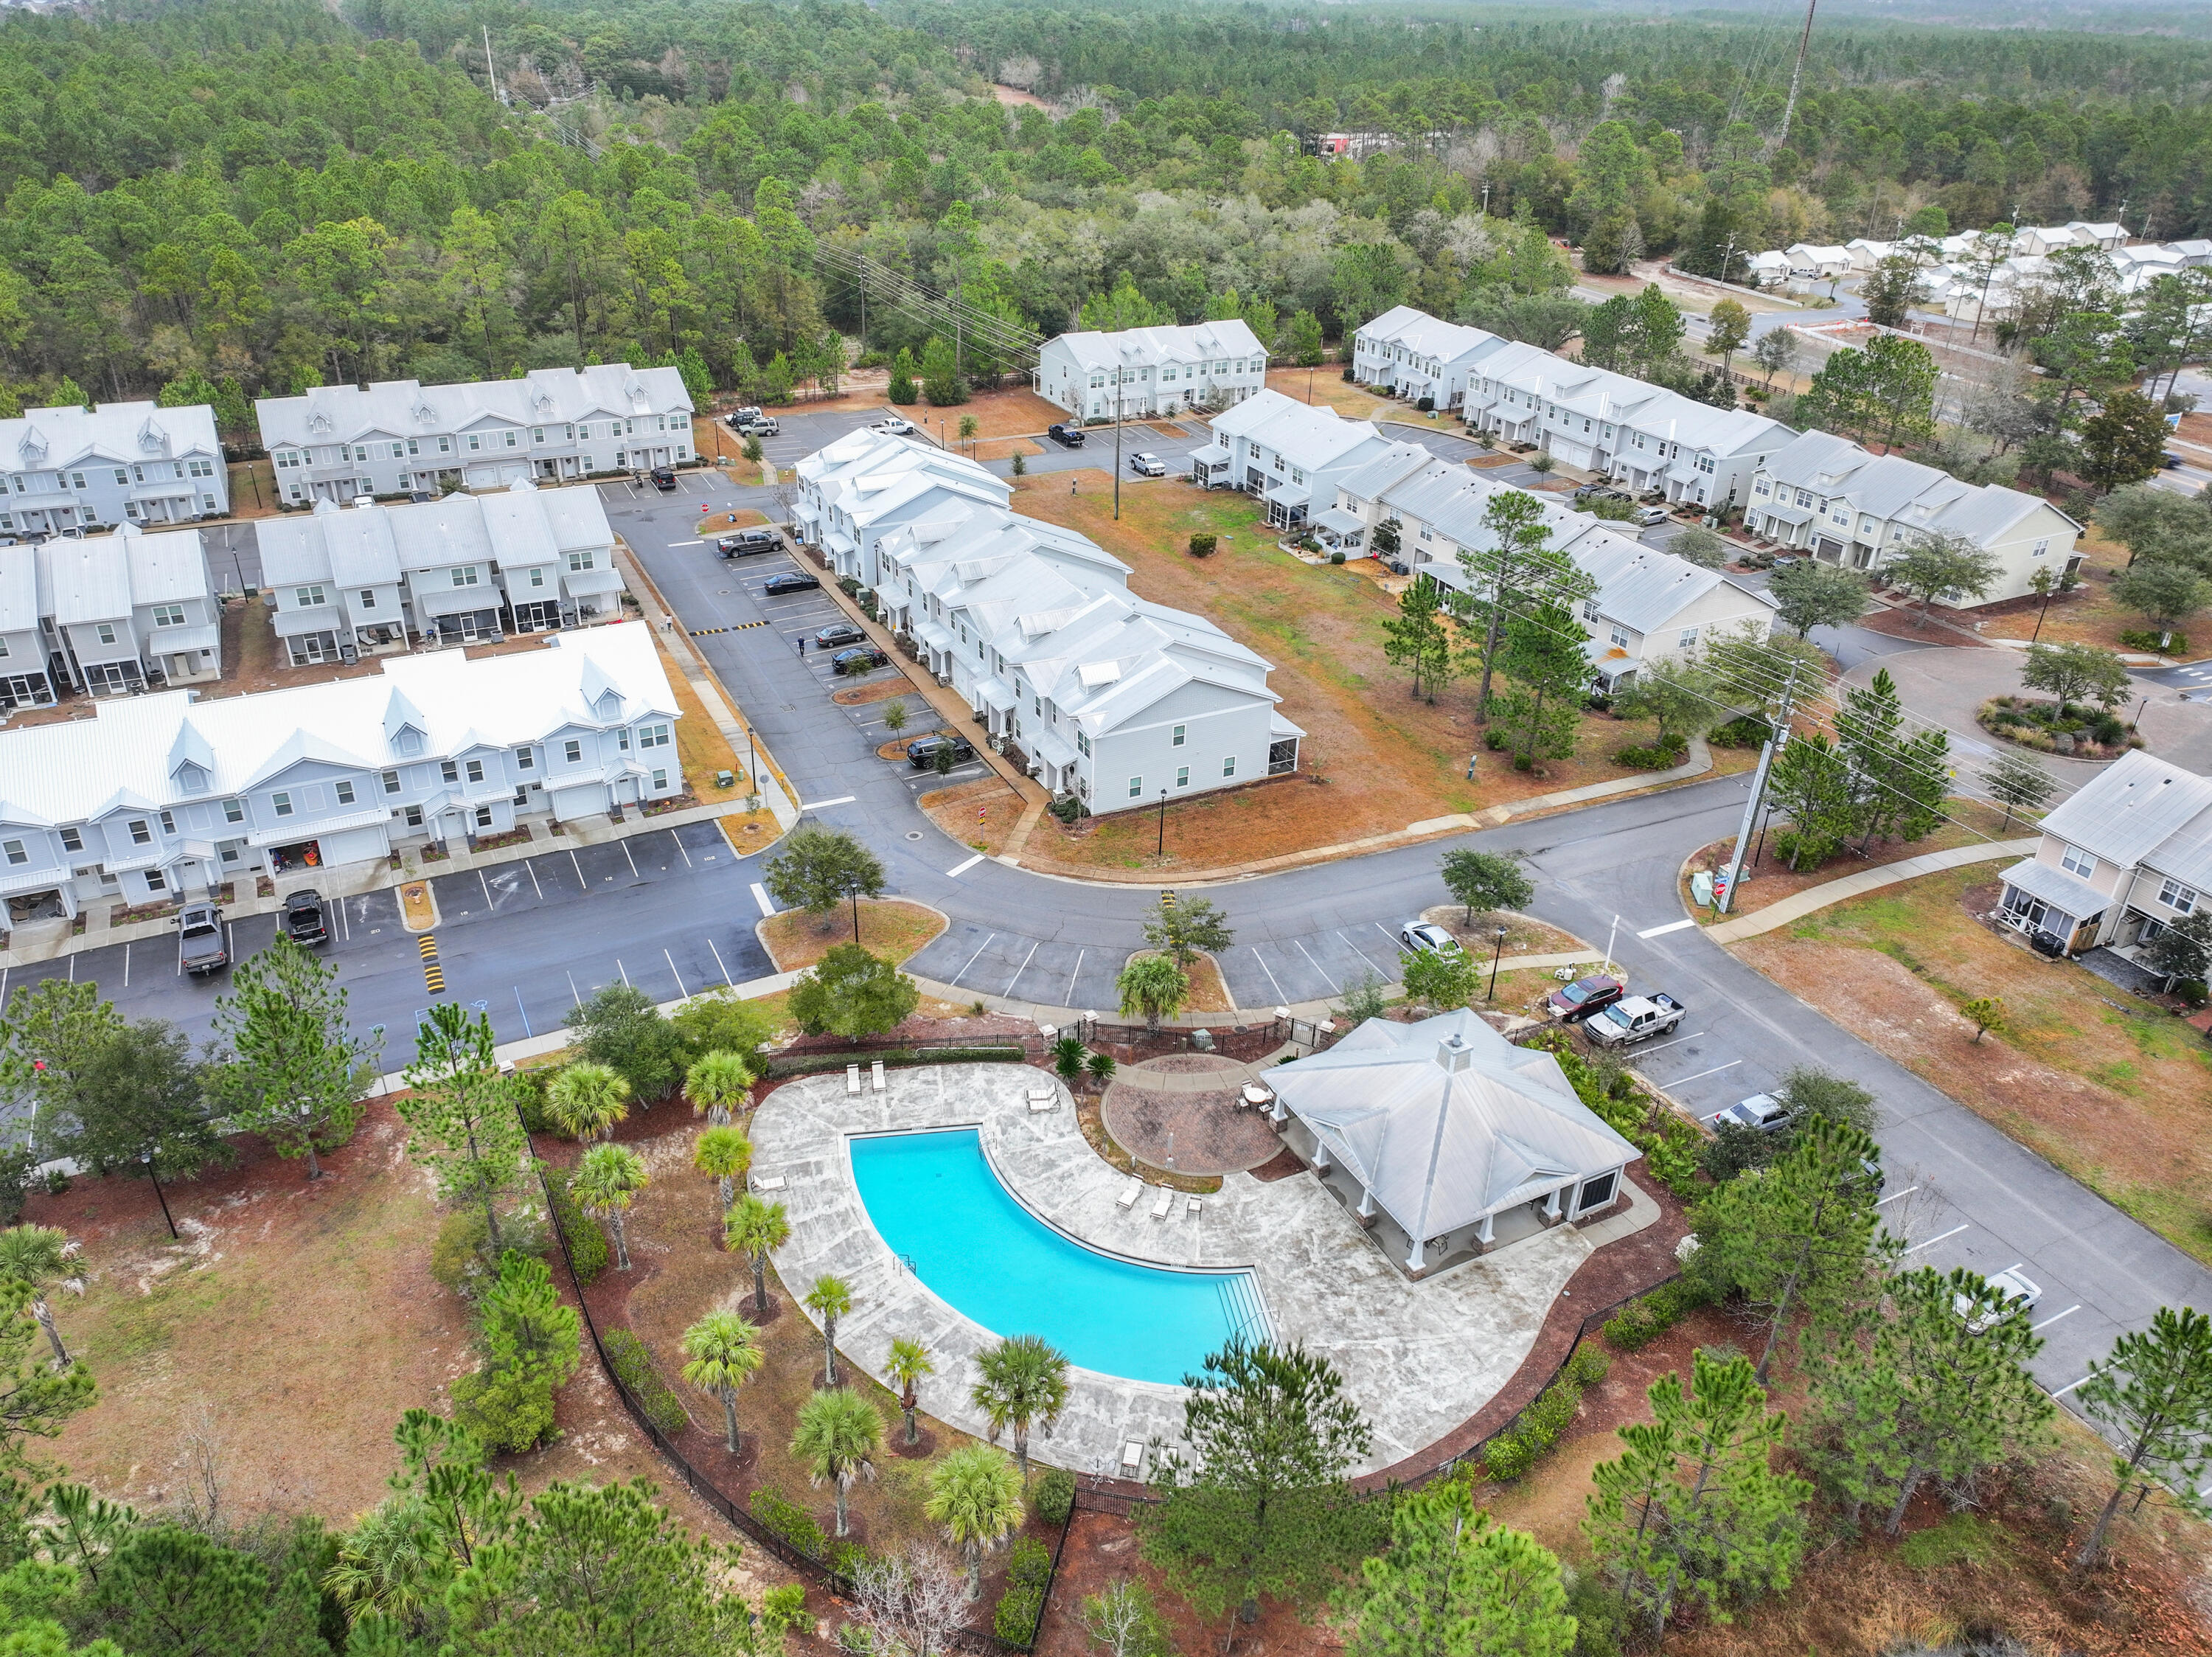
[[[1975,916],[1991,865],[1920,876],[1736,945],[1860,1040],[2212,1261],[2212,1046],[2070,962],[2046,962]],[[2004,1000],[1978,1044],[1958,1007]]]

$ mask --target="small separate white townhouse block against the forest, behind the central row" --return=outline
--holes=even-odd
[[[1057,334],[1037,350],[1037,396],[1079,420],[1243,403],[1267,383],[1267,347],[1241,316],[1117,334]]]

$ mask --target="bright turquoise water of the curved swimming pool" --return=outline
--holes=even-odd
[[[1042,1334],[1084,1369],[1179,1385],[1259,1310],[1250,1272],[1168,1272],[1062,1237],[998,1181],[975,1128],[856,1137],[852,1173],[938,1299],[991,1334]]]

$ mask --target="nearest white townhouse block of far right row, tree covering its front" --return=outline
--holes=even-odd
[[[1955,608],[2022,597],[2033,591],[2035,571],[2057,580],[2081,564],[2075,551],[2081,524],[2048,500],[1867,454],[1827,431],[1805,431],[1761,462],[1743,527],[1825,564],[1869,573],[1918,542],[1960,535],[1993,553],[2000,573],[1978,600],[1940,600]]]

